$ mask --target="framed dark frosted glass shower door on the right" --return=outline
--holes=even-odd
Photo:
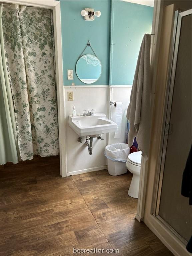
[[[181,195],[191,148],[191,10],[178,14],[155,216],[184,243],[191,236],[191,206]]]

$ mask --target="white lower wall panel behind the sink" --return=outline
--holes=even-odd
[[[105,169],[106,158],[103,154],[107,145],[107,136],[103,134],[104,140],[93,138],[93,154],[89,155],[88,147],[83,142],[77,141],[78,135],[68,125],[68,117],[71,115],[72,106],[75,104],[77,113],[83,110],[94,109],[107,115],[108,87],[69,87],[64,88],[65,95],[65,121],[66,121],[66,152],[67,152],[67,176],[83,172]],[[67,91],[73,91],[73,101],[67,100]]]

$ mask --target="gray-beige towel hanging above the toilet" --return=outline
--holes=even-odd
[[[151,35],[145,34],[141,43],[133,86],[131,90],[130,103],[127,109],[127,119],[130,122],[128,133],[128,145],[133,145],[137,136],[139,149],[142,156],[147,160],[149,154],[150,138],[150,46]]]

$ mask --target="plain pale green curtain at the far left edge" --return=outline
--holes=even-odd
[[[2,5],[0,5],[0,15],[1,13]],[[0,164],[5,164],[8,161],[18,163],[18,155],[15,113],[5,58],[3,28],[0,19]]]

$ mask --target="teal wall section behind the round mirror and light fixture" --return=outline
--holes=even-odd
[[[63,0],[60,3],[64,85],[86,85],[78,79],[75,65],[88,40],[102,65],[101,76],[94,85],[108,85],[111,1]],[[101,17],[85,21],[81,16],[81,10],[85,8],[101,11]],[[87,49],[84,54],[93,54],[90,47]],[[73,69],[74,80],[67,80],[67,69]]]

